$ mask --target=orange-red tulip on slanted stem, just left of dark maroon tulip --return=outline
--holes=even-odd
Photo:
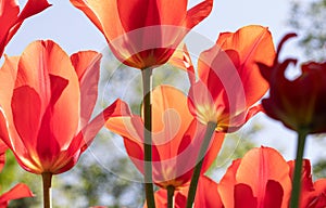
[[[173,57],[171,63],[189,73],[191,114],[202,123],[217,123],[217,131],[233,132],[261,110],[254,104],[266,93],[268,84],[255,62],[269,64],[274,56],[268,29],[247,26],[221,34],[216,44],[200,54],[198,81],[186,50],[183,60]]]

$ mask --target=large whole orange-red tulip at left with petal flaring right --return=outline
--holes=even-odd
[[[70,170],[121,102],[90,116],[101,55],[70,56],[53,41],[35,41],[0,70],[0,138],[33,173]]]

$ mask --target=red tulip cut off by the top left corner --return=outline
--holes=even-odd
[[[23,22],[37,13],[40,13],[50,4],[47,0],[28,0],[20,12],[16,0],[0,0],[0,57],[11,38],[18,30]]]

